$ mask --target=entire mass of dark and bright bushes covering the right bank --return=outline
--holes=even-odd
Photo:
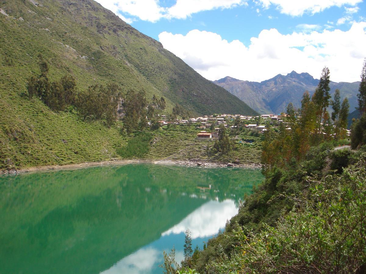
[[[201,274],[361,271],[366,152],[331,149],[323,143],[300,163],[267,170],[192,267]]]

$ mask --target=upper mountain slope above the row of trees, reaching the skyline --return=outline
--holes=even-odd
[[[94,1],[7,1],[1,15],[1,55],[12,69],[24,71],[24,82],[37,72],[37,55],[51,65],[51,78],[72,73],[80,87],[114,82],[145,88],[147,95],[164,95],[168,108],[180,103],[199,114],[253,113],[225,90],[201,77],[154,39],[120,20]],[[20,64],[19,64],[20,63]],[[21,84],[21,83],[20,83]]]

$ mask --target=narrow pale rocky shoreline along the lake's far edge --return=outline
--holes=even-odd
[[[20,170],[2,170],[0,174],[11,175],[26,172],[36,172],[36,171],[48,171],[48,170],[67,170],[75,168],[85,168],[85,167],[103,167],[103,166],[115,166],[115,165],[125,165],[125,164],[139,164],[139,163],[149,163],[149,164],[163,164],[163,165],[181,165],[188,167],[203,167],[203,168],[251,168],[258,169],[261,168],[260,164],[255,163],[224,163],[215,162],[207,160],[121,160],[121,159],[111,159],[107,161],[91,162],[91,163],[79,163],[79,164],[68,164],[68,165],[47,165],[40,167],[29,167]]]

